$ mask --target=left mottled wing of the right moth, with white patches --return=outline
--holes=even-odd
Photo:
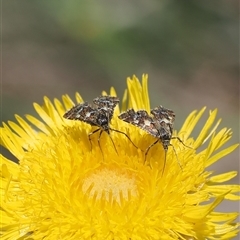
[[[154,137],[158,137],[159,135],[152,117],[150,117],[145,110],[138,110],[135,112],[133,109],[129,109],[121,113],[118,118],[143,129]]]

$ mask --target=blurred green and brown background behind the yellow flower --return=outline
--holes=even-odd
[[[2,1],[2,121],[35,114],[45,95],[121,97],[128,76],[148,73],[151,106],[173,109],[176,129],[218,108],[239,142],[238,17],[237,0]],[[239,169],[239,151],[214,169]]]

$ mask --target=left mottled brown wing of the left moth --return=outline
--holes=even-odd
[[[93,126],[98,126],[98,115],[99,113],[96,109],[92,108],[87,102],[84,102],[72,107],[63,115],[63,117],[71,120],[83,121]]]

